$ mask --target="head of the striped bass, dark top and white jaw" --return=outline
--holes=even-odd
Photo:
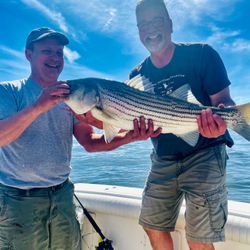
[[[70,80],[66,83],[70,87],[70,94],[65,103],[76,114],[84,114],[97,105],[97,90],[91,79]]]

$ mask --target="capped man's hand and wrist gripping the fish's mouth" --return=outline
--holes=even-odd
[[[69,86],[64,82],[57,82],[55,85],[44,88],[34,106],[39,112],[44,113],[59,102],[67,100]]]

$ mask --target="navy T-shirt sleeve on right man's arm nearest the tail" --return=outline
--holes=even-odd
[[[201,77],[208,95],[214,95],[231,84],[221,57],[209,45],[203,47]]]

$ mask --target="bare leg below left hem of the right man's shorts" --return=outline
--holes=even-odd
[[[147,233],[153,250],[173,250],[173,240],[169,232],[143,228]]]

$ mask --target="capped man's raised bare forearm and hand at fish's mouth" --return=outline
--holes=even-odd
[[[42,113],[67,98],[68,86],[56,84],[43,90],[37,101],[17,114],[0,120],[0,147],[15,141]]]

